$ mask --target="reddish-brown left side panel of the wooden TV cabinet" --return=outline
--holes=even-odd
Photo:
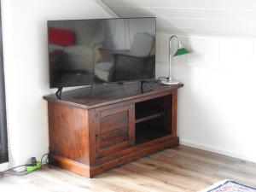
[[[49,152],[90,164],[88,111],[49,102]]]

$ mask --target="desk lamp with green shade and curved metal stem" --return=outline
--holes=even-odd
[[[174,55],[171,55],[171,42],[172,42],[172,38],[177,38],[177,36],[172,35],[172,37],[169,39],[169,77],[164,79],[164,80],[162,80],[161,84],[168,84],[168,85],[178,84],[178,82],[176,80],[172,79],[172,77],[171,77],[172,57],[179,56],[179,55],[185,55],[185,54],[189,54],[190,53],[188,49],[183,48],[183,45],[180,43],[180,41],[177,38],[177,42],[178,42],[177,50],[176,50]]]

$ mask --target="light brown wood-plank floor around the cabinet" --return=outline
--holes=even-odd
[[[53,167],[26,176],[0,177],[1,192],[195,192],[223,179],[256,186],[256,164],[180,146],[132,161],[94,178]]]

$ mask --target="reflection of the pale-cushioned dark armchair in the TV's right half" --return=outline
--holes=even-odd
[[[154,77],[154,55],[150,55],[153,46],[153,36],[147,33],[137,33],[129,51],[113,51],[113,62],[105,61],[96,64],[96,77],[103,81]]]

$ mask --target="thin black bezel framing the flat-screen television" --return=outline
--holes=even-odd
[[[154,48],[155,48],[155,55],[156,55],[156,17],[154,16],[148,16],[148,17],[118,17],[118,18],[96,18],[96,19],[78,19],[78,20],[125,20],[125,19],[146,19],[146,18],[151,18],[154,19]],[[49,22],[54,22],[54,21],[68,21],[68,20],[47,20],[47,46],[48,46],[48,64],[49,64],[49,89],[61,89],[63,87],[81,87],[81,86],[90,86],[92,84],[118,84],[118,83],[122,83],[122,82],[139,82],[139,81],[143,81],[143,80],[152,80],[155,79],[155,66],[156,66],[156,61],[155,61],[155,56],[154,56],[154,78],[152,79],[134,79],[134,80],[124,80],[124,81],[109,81],[109,82],[98,82],[96,83],[95,81],[92,82],[92,84],[79,84],[79,85],[65,85],[62,87],[57,87],[57,86],[52,86],[51,81],[52,81],[52,77],[51,77],[51,73],[50,73],[50,63],[49,63]]]

